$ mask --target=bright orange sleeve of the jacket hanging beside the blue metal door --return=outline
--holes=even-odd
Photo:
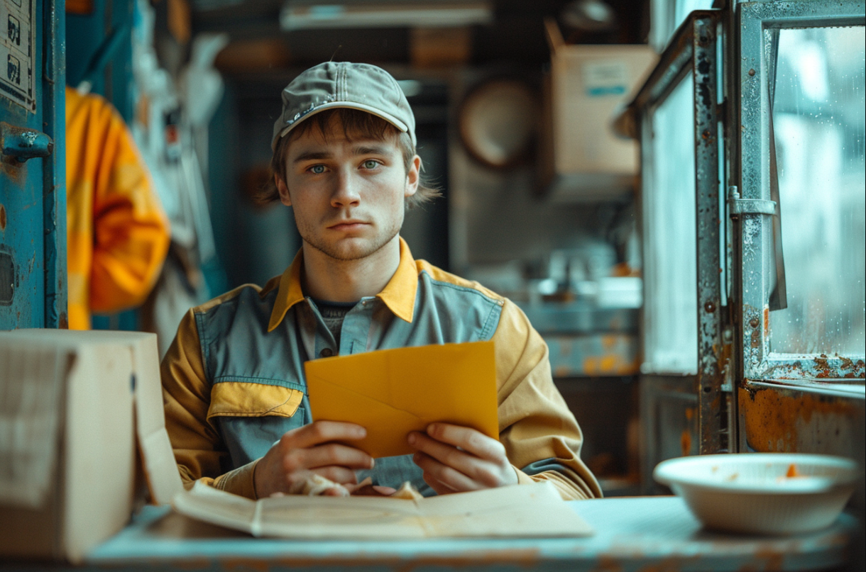
[[[169,244],[169,225],[144,160],[120,114],[106,101],[93,106],[83,133],[70,133],[97,157],[94,177],[94,258],[90,307],[118,312],[140,305],[156,282]]]

